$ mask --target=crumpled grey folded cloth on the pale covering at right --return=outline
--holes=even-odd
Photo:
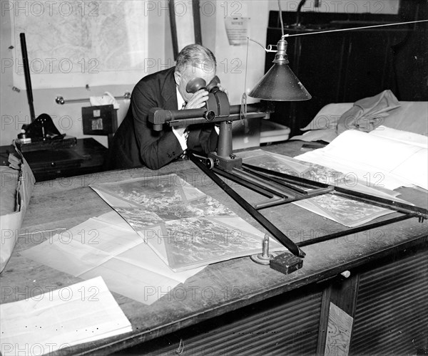
[[[388,115],[389,110],[399,106],[399,101],[391,90],[384,90],[370,98],[358,100],[340,117],[336,126],[337,134],[345,130],[370,132],[382,125],[383,117]]]

